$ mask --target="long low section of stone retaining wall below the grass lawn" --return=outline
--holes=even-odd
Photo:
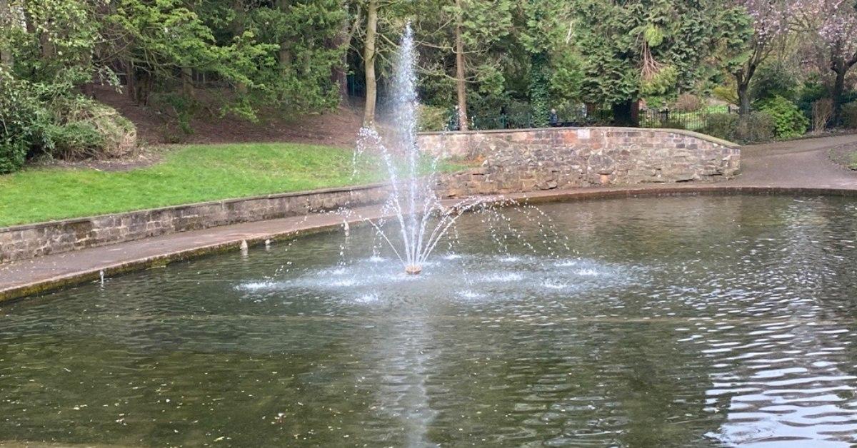
[[[18,225],[0,229],[0,263],[186,230],[300,216],[342,206],[366,206],[386,197],[386,185],[369,185]]]

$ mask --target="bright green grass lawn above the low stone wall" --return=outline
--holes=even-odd
[[[384,180],[369,170],[352,177],[351,158],[351,150],[332,146],[249,143],[180,146],[128,171],[28,168],[0,176],[0,227]]]

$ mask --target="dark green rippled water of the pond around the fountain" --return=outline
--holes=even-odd
[[[857,201],[540,209],[417,277],[352,230],[4,306],[0,445],[857,443]]]

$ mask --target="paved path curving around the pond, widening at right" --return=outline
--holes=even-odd
[[[759,188],[820,188],[857,195],[857,172],[830,162],[830,148],[854,145],[857,134],[840,135],[765,145],[745,146],[741,152],[742,174],[716,184],[666,184],[616,188],[576,188],[549,190],[533,194],[512,194],[511,199],[573,200],[592,197],[635,194],[674,194],[758,190]],[[819,193],[822,191],[818,191]],[[380,207],[355,210],[351,221],[377,218]],[[255,244],[267,239],[294,235],[299,231],[317,231],[342,224],[343,218],[331,214],[282,218],[255,223],[235,224],[207,230],[195,230],[156,236],[135,242],[123,242],[101,248],[89,248],[66,254],[47,255],[0,265],[0,302],[38,293],[63,285],[81,283],[106,276],[161,266],[198,254],[238,248],[242,241]]]

